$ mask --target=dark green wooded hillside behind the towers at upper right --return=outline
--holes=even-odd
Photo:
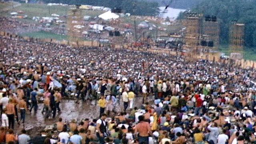
[[[221,42],[228,42],[232,22],[244,23],[246,46],[256,46],[255,0],[203,0],[192,8],[192,11],[217,16],[220,22]]]

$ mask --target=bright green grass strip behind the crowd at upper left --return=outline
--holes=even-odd
[[[45,32],[45,31],[39,31],[39,32],[29,32],[29,33],[23,33],[20,34],[21,36],[28,36],[33,38],[52,38],[56,40],[67,40],[67,36],[63,36],[60,34],[54,34],[52,32]]]

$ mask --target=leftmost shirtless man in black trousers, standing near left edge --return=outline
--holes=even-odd
[[[14,128],[14,114],[15,108],[14,104],[12,103],[12,99],[9,100],[9,103],[6,105],[6,114],[8,117],[9,128]]]

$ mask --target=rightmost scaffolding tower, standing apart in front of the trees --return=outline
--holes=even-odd
[[[229,39],[232,52],[241,52],[244,48],[244,24],[232,24]]]

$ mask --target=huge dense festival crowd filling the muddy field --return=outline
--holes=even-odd
[[[0,50],[0,142],[256,143],[255,70],[167,54],[5,37]],[[43,100],[40,111],[48,119],[70,97],[88,105],[97,100],[100,115],[80,122],[56,118],[55,133],[44,130],[31,140],[25,130],[14,135],[14,124],[37,112],[38,101]],[[137,97],[143,99],[140,107],[134,106],[140,102]]]

